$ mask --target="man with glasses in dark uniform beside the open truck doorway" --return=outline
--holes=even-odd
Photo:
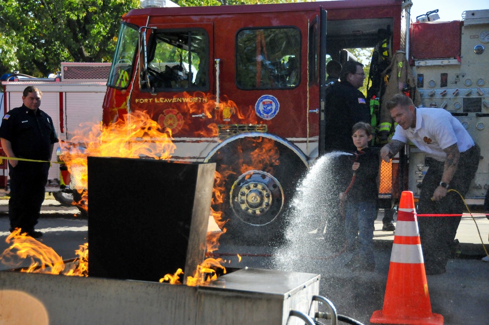
[[[363,64],[347,61],[340,74],[340,82],[326,91],[326,136],[325,151],[353,152],[352,127],[357,122],[370,124],[370,108],[358,88],[363,86]]]

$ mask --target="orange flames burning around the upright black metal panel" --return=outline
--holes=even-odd
[[[183,123],[180,125],[178,118],[172,119],[172,125],[177,125],[182,129],[189,130],[195,128],[194,135],[196,137],[218,137],[219,124],[259,124],[258,118],[253,107],[245,108],[245,114],[240,112],[236,103],[229,100],[225,96],[219,103],[216,103],[215,96],[204,93],[194,93],[190,96],[188,93],[179,94],[182,97],[178,104],[179,113],[188,113],[190,116],[201,116],[201,122],[198,118],[193,119],[192,123]],[[201,97],[201,101],[195,100]],[[180,99],[180,98],[174,98]],[[177,101],[175,101],[177,102]],[[117,111],[117,110],[115,110]],[[126,111],[127,112],[127,111]],[[172,112],[170,112],[172,113]],[[178,112],[177,112],[178,113]],[[110,125],[86,124],[82,129],[75,131],[75,136],[72,137],[71,143],[62,143],[63,154],[60,159],[65,162],[70,174],[72,185],[81,194],[81,200],[84,201],[84,206],[88,205],[88,169],[87,157],[124,157],[124,158],[152,158],[159,160],[168,160],[175,151],[175,144],[172,142],[172,133],[177,133],[179,130],[172,130],[164,124],[164,117],[156,120],[150,116],[153,113],[141,111],[133,111],[130,114],[125,114],[116,117]],[[206,120],[214,117],[214,122],[207,123]],[[173,116],[172,116],[173,118]],[[213,205],[221,205],[224,202],[223,192],[225,192],[226,181],[230,175],[239,175],[251,169],[262,169],[267,172],[272,172],[273,166],[279,164],[279,152],[274,145],[274,140],[258,137],[253,139],[251,154],[248,154],[248,147],[238,148],[238,153],[241,161],[234,164],[232,167],[221,168],[220,172],[216,171],[216,186],[214,187]],[[244,155],[243,155],[244,153]],[[236,170],[237,167],[237,170]],[[234,168],[234,169],[233,169]],[[74,186],[73,186],[74,184]],[[222,220],[222,211],[212,210],[211,213],[221,229],[227,220]],[[225,229],[224,229],[225,232]],[[208,236],[207,255],[216,250],[218,245],[219,235],[212,234]],[[17,263],[20,265],[22,261],[30,257],[32,264],[29,268],[22,269],[22,272],[39,272],[51,274],[65,274],[69,276],[88,276],[88,243],[80,245],[80,249],[76,251],[79,256],[77,263],[65,271],[65,264],[62,258],[57,255],[54,250],[32,237],[26,236],[25,233],[19,231],[12,232],[7,237],[7,243],[12,245],[1,255],[2,262]],[[15,253],[14,253],[15,252]],[[239,261],[241,256],[238,255]],[[199,285],[217,278],[216,270],[226,273],[226,269],[221,265],[221,258],[206,258],[198,267],[198,270],[193,277],[187,277],[187,285]],[[183,274],[181,269],[174,275],[166,275],[160,279],[170,283],[179,283],[179,276]]]

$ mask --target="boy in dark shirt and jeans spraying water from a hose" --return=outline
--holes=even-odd
[[[345,231],[352,259],[345,264],[354,271],[374,271],[374,221],[377,219],[379,151],[368,147],[372,126],[358,122],[352,128],[356,146],[353,178],[341,194],[346,203]],[[358,238],[358,243],[356,242]]]

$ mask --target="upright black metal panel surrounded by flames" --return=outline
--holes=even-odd
[[[193,275],[205,249],[215,164],[88,159],[89,276]]]

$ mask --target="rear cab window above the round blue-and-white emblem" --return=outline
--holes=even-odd
[[[292,27],[242,29],[236,39],[238,88],[289,89],[300,81],[300,31]]]

